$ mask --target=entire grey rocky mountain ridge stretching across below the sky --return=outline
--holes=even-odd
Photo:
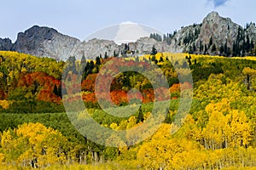
[[[117,45],[113,41],[92,39],[80,42],[79,39],[63,35],[53,28],[32,26],[20,32],[15,43],[8,38],[0,38],[0,50],[13,50],[36,56],[48,56],[66,60],[74,55],[81,58],[95,59],[105,53],[108,55],[149,54],[153,45],[159,52],[172,51],[212,55],[250,55],[256,54],[256,27],[251,23],[245,28],[232,22],[229,18],[219,16],[217,12],[207,14],[201,24],[182,27],[172,36],[154,38],[141,37],[137,42]]]

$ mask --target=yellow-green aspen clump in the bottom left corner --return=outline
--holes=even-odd
[[[65,144],[67,139],[61,133],[41,123],[25,123],[14,131],[4,131],[1,142],[6,161],[15,161],[25,167],[66,162]]]

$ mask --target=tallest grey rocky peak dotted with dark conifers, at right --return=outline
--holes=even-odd
[[[230,56],[249,54],[254,50],[255,42],[255,24],[242,28],[230,18],[212,12],[207,14],[201,24],[186,26],[177,31],[172,37],[171,47],[176,52]]]

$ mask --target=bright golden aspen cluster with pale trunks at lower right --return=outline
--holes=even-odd
[[[247,116],[243,111],[231,109],[228,99],[207,105],[206,111],[209,122],[203,129],[203,140],[207,149],[218,150],[249,143],[252,130]]]

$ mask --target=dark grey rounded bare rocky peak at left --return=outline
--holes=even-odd
[[[32,26],[18,34],[12,50],[36,56],[66,59],[79,42],[79,39],[62,35],[55,29]]]

